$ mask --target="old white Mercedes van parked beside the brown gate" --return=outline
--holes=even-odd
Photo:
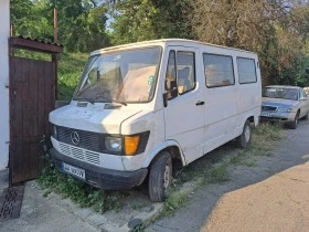
[[[50,114],[50,155],[102,189],[148,179],[150,199],[162,201],[174,159],[185,166],[234,138],[249,144],[260,102],[252,52],[179,39],[103,49],[71,104]]]

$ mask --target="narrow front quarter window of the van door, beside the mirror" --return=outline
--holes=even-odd
[[[175,80],[175,52],[173,50],[171,50],[169,54],[166,74],[166,93],[168,93],[168,99],[172,99],[178,96]]]

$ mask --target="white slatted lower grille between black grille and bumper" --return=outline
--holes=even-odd
[[[99,165],[99,154],[74,147],[63,143],[58,143],[60,151],[68,157],[83,160],[93,165]]]

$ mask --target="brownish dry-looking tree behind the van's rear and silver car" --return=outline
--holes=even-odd
[[[192,0],[189,20],[198,40],[259,54],[264,84],[300,72],[308,6],[284,0]],[[307,9],[307,10],[306,10]],[[292,84],[292,83],[290,83]]]

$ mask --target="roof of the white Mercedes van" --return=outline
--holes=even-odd
[[[102,52],[107,52],[111,50],[121,50],[121,49],[127,49],[127,48],[137,48],[137,46],[146,46],[146,45],[158,45],[160,43],[171,43],[171,42],[177,42],[177,43],[193,43],[193,44],[201,44],[201,45],[210,45],[210,46],[216,46],[216,48],[222,48],[222,49],[228,49],[228,50],[234,50],[234,51],[241,51],[241,52],[247,52],[247,53],[253,53],[251,51],[246,50],[241,50],[241,49],[235,49],[235,48],[230,48],[230,46],[223,46],[223,45],[217,45],[217,44],[212,44],[212,43],[204,43],[201,41],[194,41],[194,40],[187,40],[187,39],[161,39],[161,40],[150,40],[150,41],[142,41],[142,42],[137,42],[137,43],[128,43],[128,44],[122,44],[122,45],[117,45],[117,46],[109,46],[100,50],[96,50],[90,53],[90,55],[94,54],[99,54]]]

